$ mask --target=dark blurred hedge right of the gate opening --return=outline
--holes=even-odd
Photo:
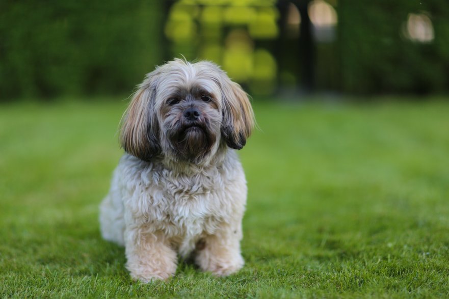
[[[338,13],[342,91],[449,91],[449,1],[340,0]],[[433,24],[429,43],[402,33],[409,14],[420,13]]]

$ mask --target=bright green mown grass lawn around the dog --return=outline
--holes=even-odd
[[[1,297],[449,297],[449,101],[253,101],[245,267],[130,280],[98,204],[126,102],[0,105]]]

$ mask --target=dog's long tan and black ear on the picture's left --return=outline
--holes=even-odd
[[[159,124],[156,119],[154,73],[139,86],[122,118],[120,143],[123,149],[149,161],[161,153]]]

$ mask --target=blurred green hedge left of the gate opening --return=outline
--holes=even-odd
[[[159,1],[0,2],[0,99],[129,93],[161,61]]]

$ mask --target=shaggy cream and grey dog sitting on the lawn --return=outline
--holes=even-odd
[[[215,276],[243,267],[247,185],[235,150],[254,124],[248,95],[214,63],[175,59],[146,75],[121,121],[125,153],[99,217],[133,280],[174,276],[177,254]]]

